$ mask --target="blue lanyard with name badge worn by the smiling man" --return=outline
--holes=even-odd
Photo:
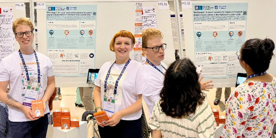
[[[25,91],[25,94],[24,94],[24,98],[23,98],[23,105],[26,106],[26,107],[31,107],[31,101],[34,101],[34,100],[37,100],[37,96],[38,96],[38,92],[39,92],[39,87],[40,87],[40,69],[39,69],[39,62],[38,62],[38,59],[37,59],[37,53],[34,51],[34,56],[35,56],[35,59],[36,59],[36,62],[37,62],[37,83],[36,83],[36,80],[32,80],[30,81],[30,78],[29,78],[29,73],[28,73],[28,69],[27,69],[27,66],[25,64],[25,61],[23,59],[23,56],[22,56],[22,53],[21,51],[19,50],[19,55],[20,55],[20,58],[21,58],[21,61],[23,63],[23,66],[25,68],[25,72],[26,72],[26,77],[27,77],[27,88],[26,88],[26,91]],[[33,84],[34,83],[34,84]]]

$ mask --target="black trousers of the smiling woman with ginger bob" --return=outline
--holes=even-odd
[[[98,126],[101,138],[141,138],[142,117],[137,120],[121,120],[116,126]]]

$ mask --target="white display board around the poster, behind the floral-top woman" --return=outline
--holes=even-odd
[[[248,3],[248,17],[246,26],[246,40],[252,38],[264,39],[266,37],[276,41],[276,12],[272,9],[276,6],[275,1],[269,0],[199,0],[192,1],[192,3]],[[259,9],[259,10],[256,10]],[[271,9],[271,10],[270,10]],[[195,48],[193,34],[193,14],[192,9],[182,9],[183,24],[184,24],[184,38],[186,46],[186,56],[195,61]],[[269,14],[268,14],[269,13]],[[266,16],[264,16],[266,15]],[[268,73],[276,75],[275,57],[270,62]],[[245,70],[242,70],[245,73]],[[213,80],[214,87],[235,87],[236,78],[208,78],[202,81]]]

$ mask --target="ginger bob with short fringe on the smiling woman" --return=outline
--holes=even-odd
[[[134,35],[133,35],[130,31],[121,30],[121,31],[117,32],[117,33],[113,36],[113,38],[112,38],[112,40],[111,40],[111,42],[110,42],[109,49],[110,49],[111,51],[113,51],[113,52],[115,51],[115,50],[114,50],[114,43],[115,43],[115,39],[116,39],[117,37],[127,37],[127,38],[130,38],[130,39],[131,39],[131,44],[135,44],[135,37],[134,37]]]

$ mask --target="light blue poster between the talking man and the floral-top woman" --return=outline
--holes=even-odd
[[[201,75],[236,77],[236,52],[245,42],[248,3],[193,3],[195,63]]]

